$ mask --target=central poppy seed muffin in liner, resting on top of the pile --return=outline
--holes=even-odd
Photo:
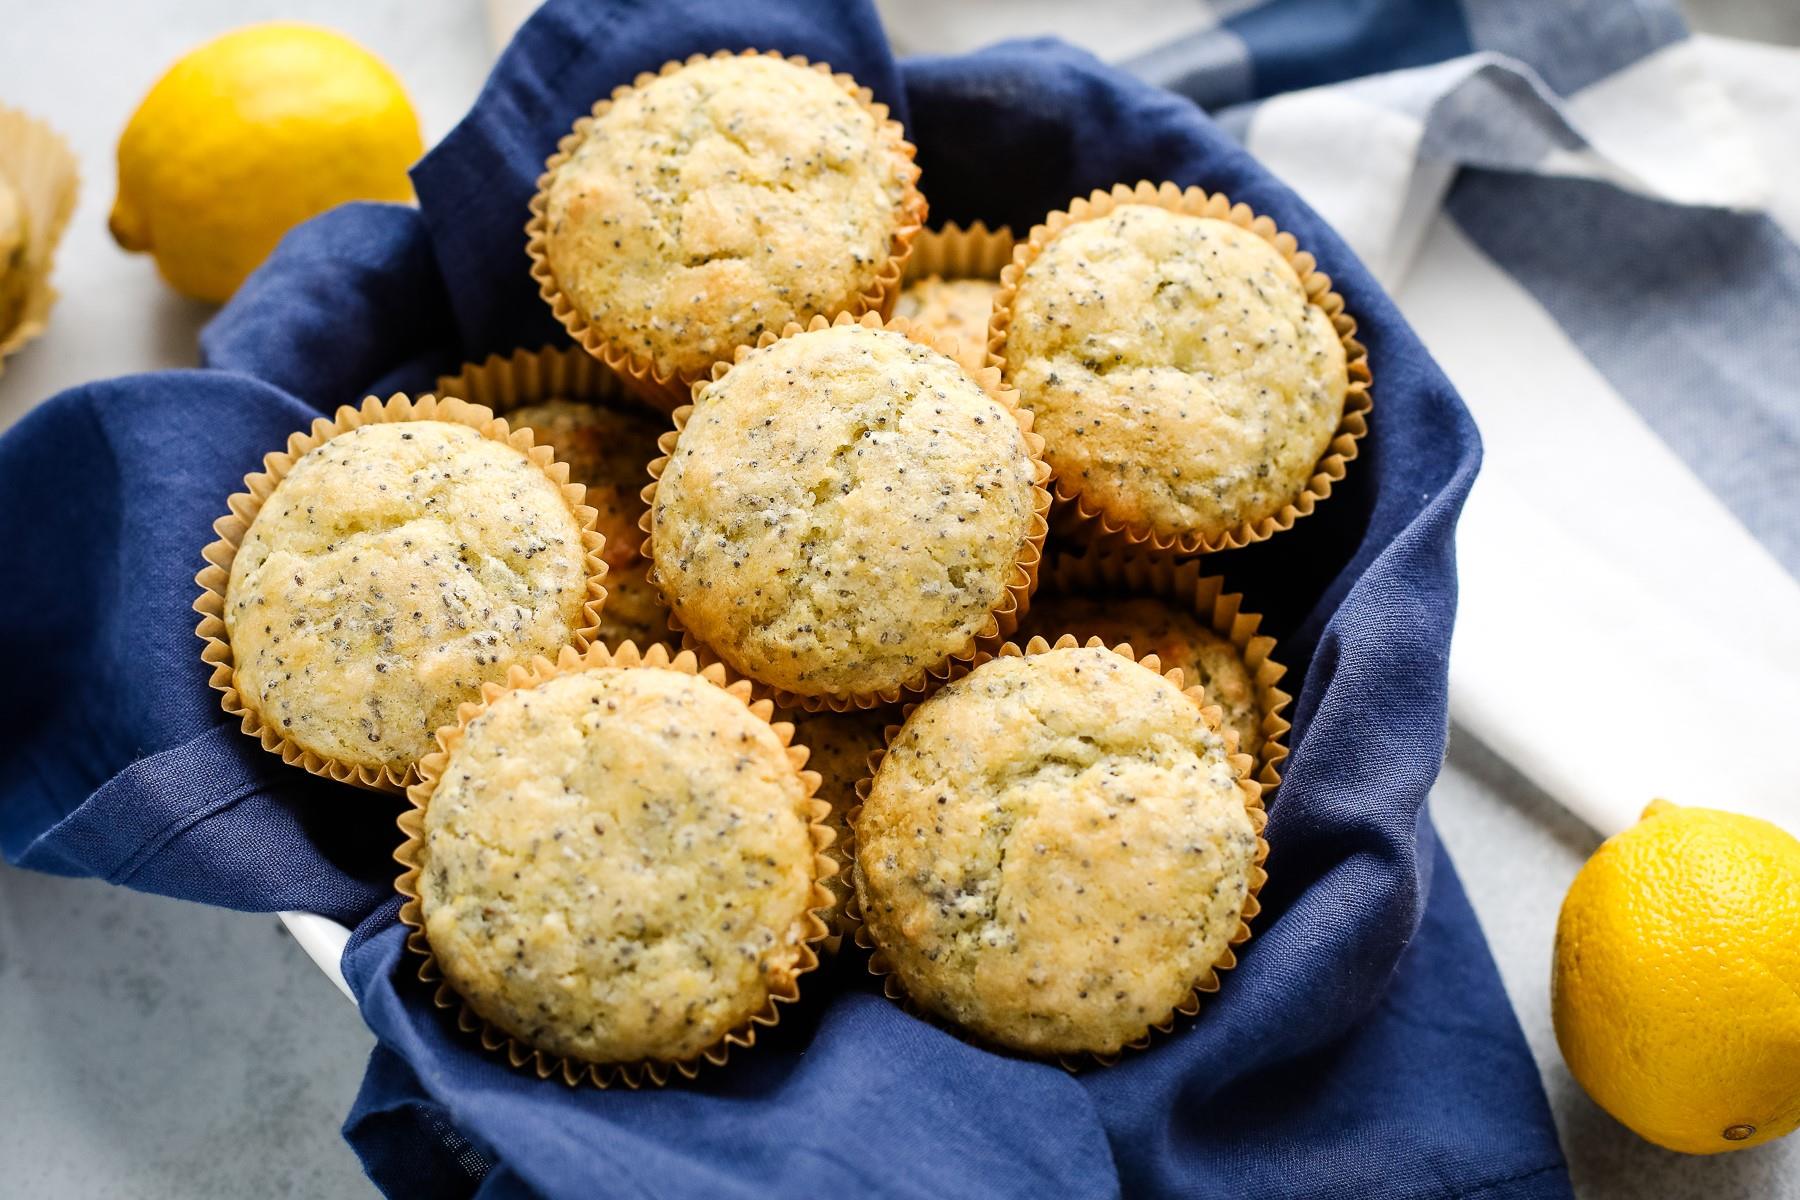
[[[1049,493],[999,387],[880,317],[815,317],[695,385],[652,462],[652,581],[788,707],[893,703],[1015,626]],[[688,644],[688,642],[684,642]]]

